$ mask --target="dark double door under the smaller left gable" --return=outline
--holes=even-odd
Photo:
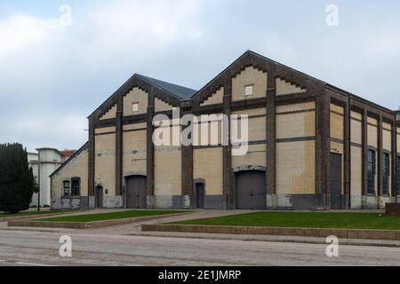
[[[146,177],[126,177],[126,208],[147,208],[147,182]]]

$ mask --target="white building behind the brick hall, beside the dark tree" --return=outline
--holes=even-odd
[[[28,153],[28,165],[32,168],[36,182],[40,180],[40,205],[47,207],[51,205],[51,182],[50,175],[60,165],[66,162],[76,151],[59,151],[54,148],[38,148],[37,153]],[[39,166],[40,161],[40,166]],[[40,168],[40,178],[39,178]],[[37,206],[37,193],[32,196],[31,206]]]

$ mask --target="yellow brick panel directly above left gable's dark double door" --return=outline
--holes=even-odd
[[[123,175],[147,174],[147,130],[124,132]]]

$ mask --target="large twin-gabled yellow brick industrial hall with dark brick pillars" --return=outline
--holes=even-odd
[[[155,146],[153,117],[176,108],[248,114],[247,154]],[[252,51],[200,91],[133,75],[89,129],[52,174],[53,208],[378,209],[400,195],[398,111]]]

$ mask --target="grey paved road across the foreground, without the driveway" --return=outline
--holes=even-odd
[[[69,232],[73,256],[59,256],[62,233],[0,231],[0,265],[399,265],[400,248],[220,241]]]

